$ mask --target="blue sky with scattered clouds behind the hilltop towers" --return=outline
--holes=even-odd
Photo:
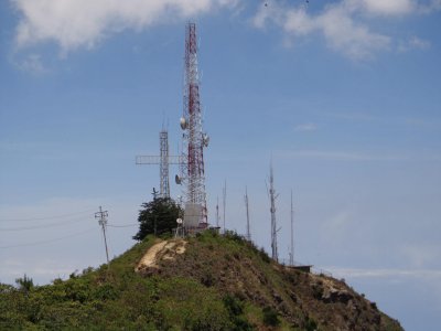
[[[14,0],[0,3],[0,280],[105,261],[94,212],[131,225],[180,143],[184,26],[197,23],[212,222],[331,271],[406,330],[441,313],[439,0]],[[178,169],[171,172],[174,174]],[[172,194],[180,189],[172,184]],[[109,227],[110,255],[136,226]],[[29,246],[25,246],[29,245]],[[12,247],[14,246],[14,247]]]

